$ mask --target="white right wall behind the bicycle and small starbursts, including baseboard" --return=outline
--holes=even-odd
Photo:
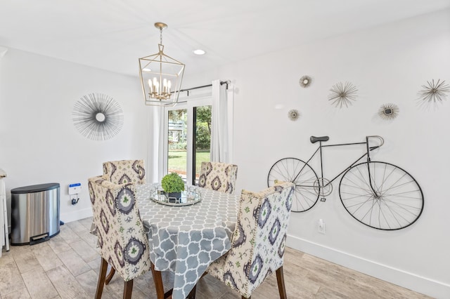
[[[420,108],[416,101],[426,81],[444,79],[450,84],[449,53],[450,11],[442,11],[215,69],[215,78],[231,79],[236,86],[233,162],[239,166],[238,189],[266,187],[266,175],[278,159],[309,157],[316,148],[309,142],[311,135],[329,135],[330,143],[383,136],[385,145],[374,160],[405,168],[423,188],[425,208],[418,222],[394,232],[361,225],[342,207],[338,181],[325,203],[291,215],[288,245],[450,298],[450,95],[431,109]],[[314,79],[309,88],[298,84],[305,74]],[[350,81],[359,90],[349,108],[328,102],[329,89],[340,81]],[[191,78],[191,84],[202,82]],[[386,103],[399,106],[394,121],[377,115]],[[288,119],[290,109],[300,111],[300,120]],[[333,157],[352,152],[333,154],[325,152],[326,173],[342,167],[340,158]],[[326,234],[317,232],[319,218],[326,222]]]

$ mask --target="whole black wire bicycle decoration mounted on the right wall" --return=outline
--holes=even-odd
[[[283,158],[271,167],[267,177],[269,187],[275,180],[295,183],[291,211],[304,212],[312,208],[321,197],[333,191],[337,178],[339,196],[345,210],[359,222],[378,230],[400,230],[418,220],[423,211],[423,192],[416,180],[404,169],[382,161],[371,161],[371,151],[384,144],[380,136],[366,136],[365,142],[323,145],[328,136],[310,138],[319,147],[305,162],[297,158]],[[332,179],[323,177],[322,150],[325,147],[365,145],[364,154]],[[310,166],[319,153],[320,178]],[[366,161],[359,163],[366,157]]]

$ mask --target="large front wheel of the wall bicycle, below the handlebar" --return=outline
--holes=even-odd
[[[385,162],[364,162],[349,168],[340,180],[339,196],[353,218],[378,230],[409,227],[423,211],[418,182]]]

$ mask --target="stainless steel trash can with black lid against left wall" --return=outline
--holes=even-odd
[[[60,185],[11,190],[11,245],[37,244],[59,233]]]

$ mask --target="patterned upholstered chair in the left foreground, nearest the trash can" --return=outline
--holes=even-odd
[[[89,178],[88,184],[101,251],[96,298],[101,298],[103,285],[114,272],[125,281],[123,298],[131,298],[133,279],[150,270],[148,239],[136,203],[136,185],[117,185],[107,178]],[[113,269],[105,281],[108,264]]]

